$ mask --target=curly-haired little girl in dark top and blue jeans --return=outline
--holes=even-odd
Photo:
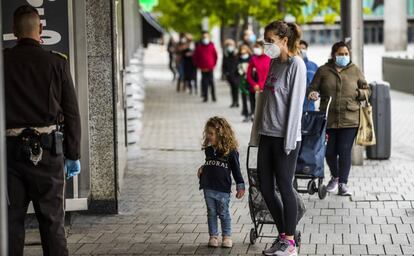
[[[198,170],[200,189],[204,190],[207,204],[207,220],[210,247],[218,247],[217,217],[220,218],[222,231],[222,247],[231,248],[231,216],[230,195],[231,175],[236,181],[236,198],[244,195],[245,186],[240,172],[239,153],[233,129],[226,119],[210,118],[203,133],[203,149],[206,162]]]

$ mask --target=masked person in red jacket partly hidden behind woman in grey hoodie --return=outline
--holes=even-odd
[[[258,41],[253,47],[253,56],[247,69],[247,82],[250,85],[250,109],[254,115],[256,106],[256,92],[263,91],[269,72],[270,58],[264,54],[264,43]]]

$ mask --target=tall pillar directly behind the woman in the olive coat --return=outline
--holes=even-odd
[[[364,20],[361,0],[341,0],[342,40],[351,46],[352,62],[364,70]],[[352,164],[364,164],[364,147],[354,144]]]

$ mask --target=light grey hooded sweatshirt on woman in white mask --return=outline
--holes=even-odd
[[[287,155],[302,140],[302,108],[306,93],[306,66],[294,56],[288,62],[272,60],[265,83],[263,119],[259,134],[285,139]]]

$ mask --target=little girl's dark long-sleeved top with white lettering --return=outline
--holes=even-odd
[[[231,175],[237,189],[244,189],[244,180],[240,171],[239,153],[231,151],[227,156],[217,152],[213,147],[204,150],[206,162],[200,177],[200,189],[211,189],[220,192],[231,192]]]

